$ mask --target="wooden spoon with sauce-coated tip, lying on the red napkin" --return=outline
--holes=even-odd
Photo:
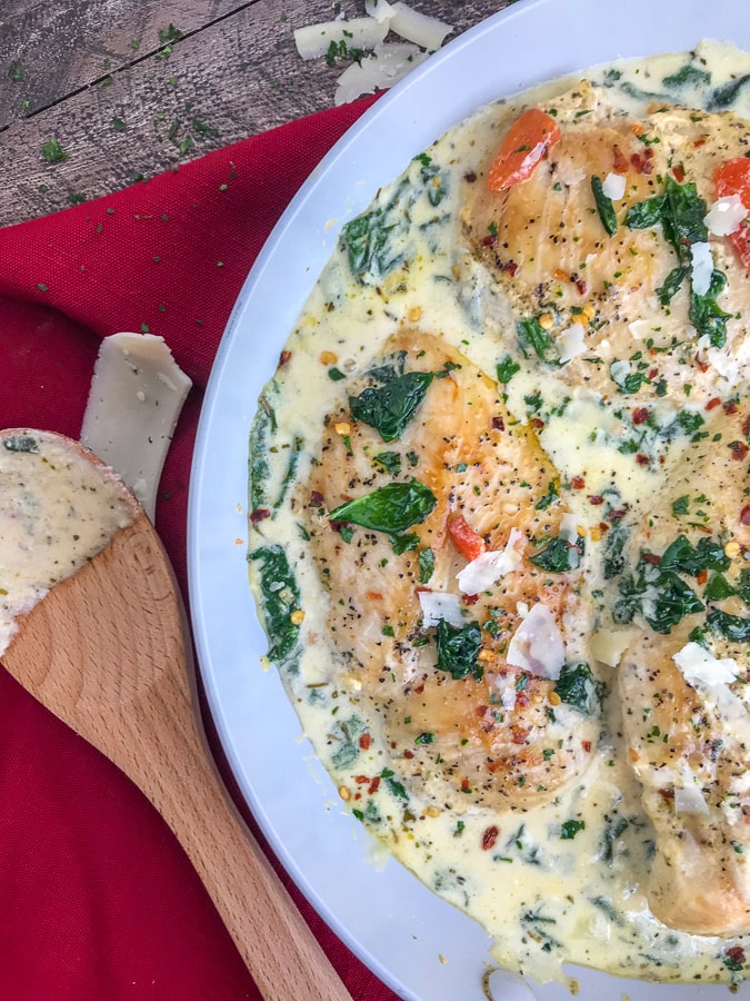
[[[13,434],[0,432],[0,439]],[[111,479],[88,449],[59,439]],[[143,509],[128,497],[132,523],[19,618],[2,662],[146,793],[196,866],[263,998],[350,1001],[221,784],[199,723],[174,574]]]

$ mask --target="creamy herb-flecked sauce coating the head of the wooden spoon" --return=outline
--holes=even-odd
[[[123,485],[56,435],[0,439],[0,654],[17,618],[132,521]]]

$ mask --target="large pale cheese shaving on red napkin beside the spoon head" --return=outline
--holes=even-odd
[[[153,519],[161,469],[192,383],[163,337],[104,337],[83,414],[81,444],[107,463]]]

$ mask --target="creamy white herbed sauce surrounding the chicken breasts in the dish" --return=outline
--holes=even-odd
[[[652,95],[664,92],[663,78],[689,61],[684,54],[666,56],[618,66],[614,71],[597,69],[590,78],[608,89],[613,103],[642,113]],[[709,69],[713,85],[750,70],[747,56],[711,46],[701,47],[692,65]],[[566,86],[549,85],[539,93],[546,97]],[[750,117],[749,95],[748,88],[740,91],[733,107]],[[672,91],[671,100],[674,98]],[[686,82],[680,86],[679,99],[698,108],[706,100],[706,90]],[[331,406],[329,369],[336,366],[343,375],[367,369],[388,337],[410,318],[418,316],[420,328],[439,330],[448,344],[460,348],[480,369],[494,373],[506,336],[503,325],[509,317],[502,304],[488,301],[486,290],[480,300],[472,264],[467,260],[457,227],[450,220],[460,209],[463,176],[481,160],[482,150],[493,146],[493,123],[498,119],[497,108],[482,111],[430,148],[431,160],[447,177],[448,196],[437,212],[426,200],[418,200],[410,226],[398,237],[397,249],[411,262],[406,289],[389,288],[388,279],[379,288],[354,286],[344,252],[338,250],[333,255],[287,344],[289,360],[267,390],[280,429],[271,435],[272,448],[264,455],[262,476],[268,483],[278,487],[289,477],[290,469],[292,478],[304,479],[308,475]],[[419,166],[412,163],[406,175],[407,189],[417,187],[418,174]],[[402,184],[396,181],[381,191],[377,205],[387,206]],[[436,215],[448,222],[434,225]],[[486,320],[493,310],[497,329],[490,330]],[[638,347],[636,340],[634,346]],[[602,348],[601,354],[604,353]],[[681,385],[681,377],[680,371],[670,373],[673,385]],[[706,376],[707,380],[713,378],[716,373]],[[539,388],[539,374],[532,366],[509,383],[508,405],[519,419],[527,419],[524,399]],[[560,406],[568,392],[568,386],[556,384],[550,377],[544,384],[548,410]],[[708,392],[721,392],[721,387],[717,389],[712,383]],[[728,397],[729,393],[724,398]],[[664,414],[669,405],[667,400]],[[561,478],[584,473],[587,496],[616,484],[617,503],[628,505],[633,518],[648,517],[654,484],[679,462],[680,446],[672,443],[666,454],[659,453],[658,443],[653,444],[657,458],[664,454],[663,468],[654,473],[636,464],[632,455],[618,450],[622,434],[622,420],[614,408],[602,406],[593,393],[579,388],[566,403],[562,415],[550,413],[541,442]],[[290,454],[294,450],[298,454],[292,466]],[[498,815],[479,807],[459,813],[434,810],[411,795],[404,810],[398,790],[388,782],[380,783],[377,797],[368,796],[367,784],[358,782],[357,776],[379,775],[383,767],[398,773],[398,764],[391,760],[377,720],[366,721],[372,745],[356,750],[352,763],[340,764],[346,740],[351,737],[356,743],[356,734],[342,733],[341,721],[351,721],[363,712],[358,697],[360,682],[327,643],[328,594],[300,534],[297,514],[286,498],[288,494],[270,517],[258,523],[251,549],[268,541],[279,543],[294,568],[299,601],[290,595],[289,603],[303,612],[297,623],[301,644],[294,657],[281,665],[281,674],[306,732],[356,815],[427,885],[482,923],[494,939],[494,954],[503,967],[541,981],[564,980],[563,962],[647,980],[741,979],[741,973],[724,962],[726,949],[732,944],[750,948],[750,938],[719,940],[673,931],[649,910],[644,881],[653,851],[653,831],[643,812],[639,783],[627,762],[614,695],[604,705],[601,740],[591,767],[543,806]],[[596,554],[596,525],[601,513],[576,492],[571,492],[570,503]],[[597,559],[591,561],[591,566],[594,568],[589,584],[596,592],[603,582],[596,568]],[[253,586],[259,586],[257,574]],[[603,592],[590,601],[591,614],[601,624],[594,648],[603,675],[611,682],[606,665],[618,663],[633,634],[628,628],[611,628]],[[580,643],[592,656],[590,637],[581,637]],[[576,821],[573,836],[567,833],[572,830],[571,821]],[[491,826],[498,829],[493,843],[490,849],[482,849]]]

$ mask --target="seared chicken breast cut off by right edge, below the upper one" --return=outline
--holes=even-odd
[[[643,623],[619,674],[626,746],[657,836],[651,909],[673,928],[724,936],[750,929],[750,412],[727,409],[684,448],[634,541],[652,567],[647,615],[669,586],[664,564],[706,607],[669,633]],[[680,543],[680,557],[676,539],[692,548]]]

